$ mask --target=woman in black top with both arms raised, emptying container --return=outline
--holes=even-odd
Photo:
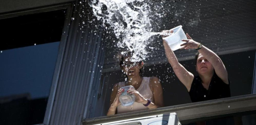
[[[173,33],[173,30],[163,31]],[[185,35],[185,34],[184,34]],[[196,70],[199,76],[194,76],[182,66],[163,37],[165,54],[177,78],[187,88],[192,102],[201,102],[218,98],[230,97],[228,72],[221,59],[201,43],[194,41],[188,34],[188,39],[182,39],[181,49],[196,49]]]

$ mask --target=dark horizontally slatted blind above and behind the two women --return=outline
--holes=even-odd
[[[156,2],[157,3],[157,2]],[[158,4],[160,4],[158,2]],[[176,0],[162,3],[166,16],[158,23],[161,31],[178,25],[197,42],[219,55],[256,49],[256,1],[255,0]],[[169,12],[168,12],[169,11]],[[157,20],[158,21],[158,20]],[[103,72],[119,70],[115,64],[114,35],[106,39],[106,57]],[[114,39],[113,39],[114,38]],[[150,51],[146,65],[166,62],[162,40],[158,37],[150,44],[157,50]],[[195,50],[177,50],[181,60],[193,59]]]

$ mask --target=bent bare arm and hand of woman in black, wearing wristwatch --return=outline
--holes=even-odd
[[[184,43],[185,49],[197,49],[198,44],[196,41],[194,41],[189,34],[186,34],[188,39],[184,39],[182,41],[185,41],[187,43]],[[213,51],[208,49],[205,46],[202,46],[200,50],[198,50],[199,53],[201,53],[205,59],[209,60],[209,62],[213,65],[214,70],[219,78],[226,84],[228,84],[228,71],[226,70],[223,62],[221,61],[221,58],[216,55]]]

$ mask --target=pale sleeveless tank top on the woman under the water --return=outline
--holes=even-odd
[[[118,89],[121,87],[125,86],[125,82],[119,82]],[[149,77],[143,77],[142,83],[137,89],[137,91],[144,97],[148,98],[151,100],[151,102],[154,103],[154,96],[153,92],[150,90],[150,78]],[[149,109],[147,106],[144,106],[142,103],[134,102],[133,105],[129,106],[123,106],[123,105],[118,105],[117,107],[117,113],[129,113],[133,111],[140,111],[140,110],[145,110]]]

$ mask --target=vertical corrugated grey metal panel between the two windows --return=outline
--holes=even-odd
[[[80,125],[98,85],[104,60],[104,31],[87,3],[77,0],[61,66],[50,125]],[[83,13],[85,12],[85,13]],[[71,19],[70,19],[71,20]],[[64,33],[65,35],[65,33]],[[97,87],[97,86],[96,86]],[[89,103],[90,102],[90,103]],[[86,108],[85,108],[86,107]]]

